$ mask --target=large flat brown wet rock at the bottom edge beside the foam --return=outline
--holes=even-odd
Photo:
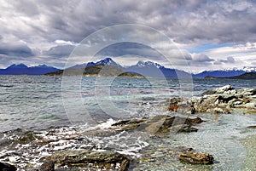
[[[113,151],[60,151],[55,152],[49,161],[54,162],[55,166],[61,167],[67,165],[69,168],[102,168],[114,169],[118,168],[120,171],[128,169],[130,159],[125,155]]]

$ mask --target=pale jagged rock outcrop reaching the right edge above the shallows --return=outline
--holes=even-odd
[[[186,105],[184,111],[183,104]],[[190,111],[189,111],[190,109]],[[235,89],[230,85],[221,88],[213,88],[201,94],[201,97],[193,97],[192,100],[172,98],[169,111],[181,113],[210,112],[217,114],[229,114],[234,110],[242,113],[256,113],[256,88]]]

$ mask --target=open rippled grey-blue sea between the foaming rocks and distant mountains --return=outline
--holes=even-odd
[[[63,100],[61,77],[0,76],[0,132],[15,128],[42,129],[70,121],[86,123],[83,116],[96,122],[110,117],[143,117],[157,112],[155,106],[171,96],[199,95],[226,84],[235,88],[256,88],[255,81],[244,80],[195,79],[193,84],[188,83],[193,86],[189,89],[181,86],[177,79],[118,77],[109,82],[106,81],[109,78],[83,77],[80,83],[73,83],[72,77],[68,79],[74,92],[72,98],[79,93],[79,100],[82,100],[83,106],[77,107],[83,109],[78,113],[76,110],[66,113],[70,111],[70,104],[75,108],[78,98],[63,104],[66,97]],[[80,87],[73,88],[74,84]]]

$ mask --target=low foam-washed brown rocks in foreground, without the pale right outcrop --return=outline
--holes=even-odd
[[[213,157],[208,157],[205,153],[197,153],[193,149],[186,147],[163,151],[163,149],[154,149],[154,146],[148,145],[148,149],[150,150],[139,151],[141,156],[134,156],[117,152],[117,149],[111,147],[96,147],[96,145],[90,144],[90,141],[87,140],[88,137],[92,139],[101,137],[99,140],[103,141],[104,139],[108,139],[109,136],[127,139],[126,135],[129,134],[134,134],[136,138],[140,139],[144,134],[147,139],[158,141],[168,138],[169,134],[189,134],[196,132],[198,129],[195,128],[195,126],[203,122],[200,117],[190,118],[159,115],[148,118],[120,120],[119,122],[113,123],[108,128],[93,128],[84,131],[68,130],[68,134],[59,134],[55,129],[49,130],[47,133],[22,133],[22,130],[16,130],[16,132],[20,134],[19,137],[11,137],[10,139],[2,141],[2,143],[4,142],[5,145],[16,145],[14,150],[18,150],[13,153],[15,155],[20,152],[23,153],[24,151],[36,151],[34,148],[38,149],[38,162],[42,163],[41,166],[36,167],[27,163],[26,167],[23,169],[20,168],[20,170],[60,171],[85,169],[125,171],[136,168],[139,163],[154,162],[162,155],[170,157],[175,161],[180,160],[193,164],[211,164]],[[11,134],[17,134],[16,132]],[[124,134],[124,136],[120,136],[121,134]],[[79,145],[76,145],[78,143]],[[131,143],[134,142],[131,141]],[[62,146],[66,145],[67,147],[62,148],[61,146],[57,146],[57,144]],[[82,147],[83,145],[85,145],[85,147]],[[44,157],[40,157],[40,154],[42,154],[40,149],[46,147],[49,148],[48,154],[46,156],[44,155]],[[154,152],[152,153],[152,151]],[[193,151],[193,154],[189,156],[190,159],[188,159],[189,157],[185,157],[189,155],[188,151]],[[20,163],[22,160],[26,162],[27,160],[23,159],[23,157],[7,155],[5,161],[8,162],[10,159],[15,163]],[[1,162],[0,170],[4,168],[6,171],[13,171],[19,168],[19,166],[15,167],[7,162]]]

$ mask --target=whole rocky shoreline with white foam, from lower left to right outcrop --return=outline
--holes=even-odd
[[[242,97],[241,94],[243,94]],[[237,109],[254,110],[255,106],[251,104],[254,104],[255,94],[256,89],[253,88],[239,90],[224,86],[208,90],[191,101],[177,97],[170,98],[169,113],[166,115],[135,117],[119,121],[109,119],[106,123],[99,123],[94,128],[64,126],[38,131],[26,132],[17,129],[5,132],[1,134],[0,162],[9,163],[19,170],[45,171],[81,167],[92,170],[100,168],[127,170],[137,167],[146,169],[148,165],[151,166],[154,163],[163,162],[166,165],[168,163],[164,159],[166,158],[180,165],[181,168],[212,169],[222,162],[218,152],[211,154],[214,149],[201,151],[200,146],[194,145],[193,141],[190,143],[188,141],[184,146],[179,145],[177,141],[169,146],[168,140],[173,143],[172,140],[182,137],[196,137],[202,134],[207,126],[216,127],[214,126],[216,123],[221,128],[223,127],[220,124],[221,119],[243,116],[248,116],[247,119],[250,119],[250,116],[256,114],[254,111],[246,115],[233,114],[233,112]],[[224,110],[223,105],[227,111]],[[212,120],[208,119],[208,115]],[[253,124],[247,125],[247,130],[252,133],[249,132],[243,136],[253,134],[254,127]],[[242,125],[241,128],[243,128]],[[31,154],[24,157],[24,151],[31,151]],[[84,156],[87,157],[84,158]],[[73,160],[73,157],[77,159]],[[67,168],[65,168],[66,165]],[[6,167],[11,166],[7,164]]]

